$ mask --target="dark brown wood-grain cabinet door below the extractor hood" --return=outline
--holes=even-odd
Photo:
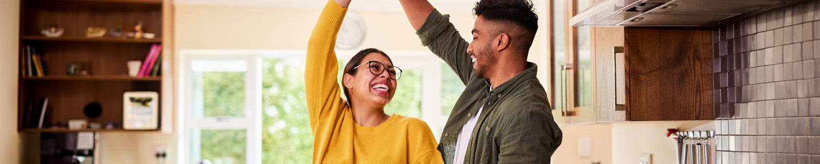
[[[626,27],[626,120],[713,120],[711,34]]]

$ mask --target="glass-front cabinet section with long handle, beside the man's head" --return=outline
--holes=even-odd
[[[553,116],[558,124],[595,122],[595,66],[590,27],[572,27],[569,19],[593,0],[549,2],[551,92]]]

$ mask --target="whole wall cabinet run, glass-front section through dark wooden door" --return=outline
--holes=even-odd
[[[585,0],[581,0],[585,1]],[[579,0],[553,0],[549,90],[563,125],[712,120],[711,30],[573,27]]]

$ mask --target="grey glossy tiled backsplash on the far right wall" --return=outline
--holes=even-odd
[[[820,163],[820,0],[715,28],[715,161]]]

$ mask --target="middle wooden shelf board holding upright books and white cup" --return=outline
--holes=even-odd
[[[47,75],[43,77],[21,77],[21,80],[64,80],[64,81],[161,81],[161,76],[131,77],[128,75]]]

